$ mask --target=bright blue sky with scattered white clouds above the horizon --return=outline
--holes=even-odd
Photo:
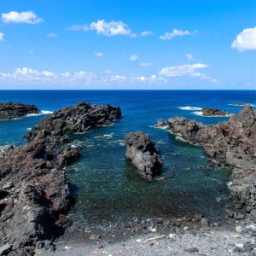
[[[256,0],[0,0],[0,90],[255,90]]]

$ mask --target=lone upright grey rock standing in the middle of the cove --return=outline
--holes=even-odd
[[[126,157],[143,179],[152,181],[155,175],[160,174],[163,161],[147,134],[142,131],[131,132],[125,136],[125,143]]]

